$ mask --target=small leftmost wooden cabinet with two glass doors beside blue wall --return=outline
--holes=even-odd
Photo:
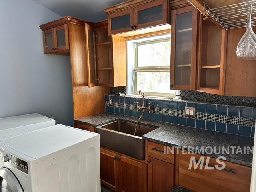
[[[43,31],[44,53],[52,53],[69,49],[68,24]]]

